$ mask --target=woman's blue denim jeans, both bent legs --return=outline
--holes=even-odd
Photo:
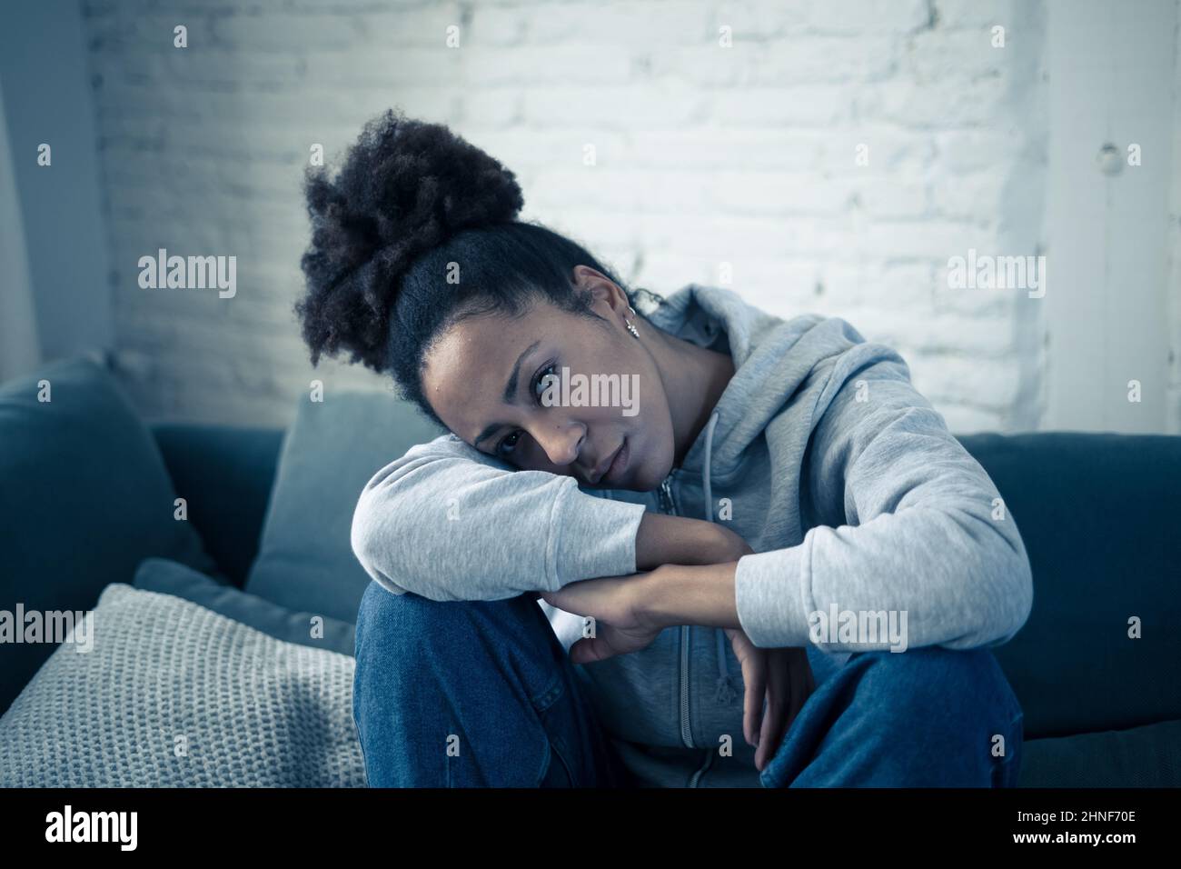
[[[862,651],[841,664],[809,647],[808,657],[816,690],[763,786],[1016,785],[1022,709],[991,651]],[[441,603],[371,583],[353,714],[373,787],[632,784],[527,595]]]

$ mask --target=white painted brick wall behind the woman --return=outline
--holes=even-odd
[[[1038,2],[91,0],[85,19],[119,358],[150,417],[283,424],[313,377],[381,388],[313,372],[291,306],[309,145],[332,161],[400,105],[504,162],[524,219],[625,280],[668,293],[729,264],[755,304],[895,345],[953,430],[1037,423],[1024,293],[951,291],[945,271],[970,247],[1037,252]],[[236,255],[237,296],[141,290],[158,247]]]

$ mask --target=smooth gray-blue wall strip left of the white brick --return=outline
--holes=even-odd
[[[15,209],[0,223],[6,235],[0,242],[0,293],[20,294],[24,275],[37,314],[35,335],[14,339],[24,349],[6,341],[0,352],[24,359],[14,364],[26,370],[37,348],[53,359],[99,351],[113,342],[109,241],[84,31],[77,0],[9,4],[0,21],[0,83],[12,170],[12,187],[6,183],[2,192],[9,201],[0,208]],[[47,161],[39,161],[43,144],[50,148]],[[9,297],[2,305],[5,316],[9,304],[24,307]],[[14,316],[20,314],[14,310]],[[25,328],[9,322],[0,332]]]

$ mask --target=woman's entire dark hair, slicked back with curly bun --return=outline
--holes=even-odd
[[[524,200],[511,171],[446,127],[400,111],[365,124],[334,180],[309,168],[305,194],[312,244],[295,313],[312,364],[347,351],[350,362],[392,375],[402,396],[444,428],[422,370],[451,325],[492,312],[521,317],[539,299],[602,320],[575,290],[579,265],[633,298],[580,245],[516,220]]]

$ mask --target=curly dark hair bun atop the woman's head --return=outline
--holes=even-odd
[[[524,205],[511,171],[442,124],[400,111],[365,124],[335,180],[305,180],[312,244],[295,305],[312,364],[351,352],[383,370],[390,317],[410,264],[449,235],[514,220]]]

